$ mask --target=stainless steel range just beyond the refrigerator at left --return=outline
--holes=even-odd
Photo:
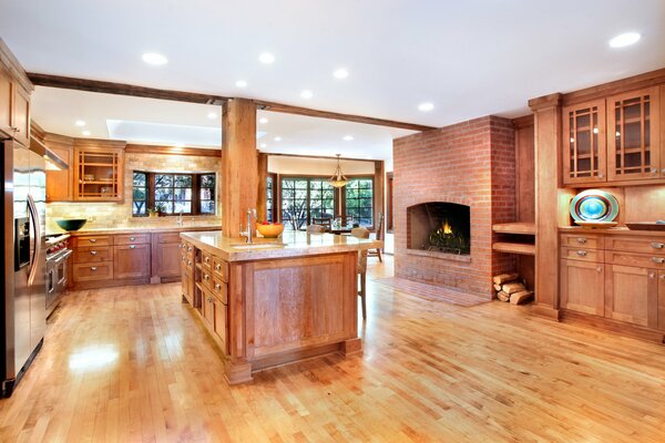
[[[69,234],[47,236],[47,317],[60,303],[66,291],[66,259],[72,255]]]

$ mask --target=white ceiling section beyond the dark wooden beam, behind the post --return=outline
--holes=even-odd
[[[209,119],[215,113],[217,119]],[[45,131],[130,143],[219,147],[221,106],[37,86],[32,117]],[[390,159],[392,138],[412,131],[259,111],[257,143],[266,153]],[[75,125],[78,120],[85,126]],[[83,135],[90,131],[90,135]],[[347,135],[352,141],[344,141]],[[275,138],[280,141],[276,142]],[[265,144],[265,146],[263,146]]]

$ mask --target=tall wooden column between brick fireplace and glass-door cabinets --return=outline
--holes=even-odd
[[[535,144],[535,306],[533,313],[554,320],[559,313],[559,187],[561,171],[561,94],[529,101]]]

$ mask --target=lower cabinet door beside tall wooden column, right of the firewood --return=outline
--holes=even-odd
[[[561,260],[561,308],[603,316],[604,265],[579,260]]]

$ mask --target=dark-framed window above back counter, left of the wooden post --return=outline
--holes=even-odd
[[[134,217],[146,216],[149,209],[163,215],[215,214],[215,174],[149,173],[135,171],[133,176]]]

